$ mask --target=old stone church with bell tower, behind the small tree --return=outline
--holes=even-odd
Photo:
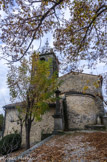
[[[52,58],[51,73],[58,71],[59,62],[52,50],[40,54],[40,60]],[[55,131],[83,130],[97,123],[97,117],[104,113],[102,98],[102,79],[97,75],[71,72],[59,77],[62,84],[56,95],[60,100],[50,104],[50,109],[39,122],[33,122],[31,127],[31,144],[41,140],[43,134]],[[99,85],[96,86],[95,85]],[[84,92],[85,88],[85,92]],[[96,96],[99,94],[100,97]],[[6,105],[4,136],[15,132],[20,133],[17,104]],[[100,121],[102,124],[102,120]],[[22,144],[25,144],[25,128],[22,129]]]

